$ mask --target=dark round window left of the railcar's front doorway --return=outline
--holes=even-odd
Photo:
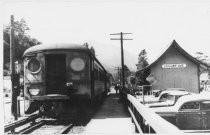
[[[41,70],[41,63],[37,59],[32,58],[28,61],[27,68],[32,74],[37,74]]]

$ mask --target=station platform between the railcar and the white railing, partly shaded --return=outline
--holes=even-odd
[[[85,134],[134,134],[135,126],[126,106],[111,89],[102,106],[85,128]]]

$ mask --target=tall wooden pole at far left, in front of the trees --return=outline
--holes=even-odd
[[[12,88],[12,101],[11,113],[17,120],[17,94],[15,89],[15,46],[14,46],[14,16],[11,15],[11,28],[10,28],[10,72],[11,72],[11,88]]]

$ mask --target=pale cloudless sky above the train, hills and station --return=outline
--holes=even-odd
[[[138,54],[157,58],[173,40],[194,56],[201,51],[210,57],[210,1],[172,0],[5,0],[3,23],[10,15],[24,18],[29,35],[47,43],[88,42],[108,68],[121,65],[120,41],[112,33],[132,33],[124,41],[125,64],[136,70]]]

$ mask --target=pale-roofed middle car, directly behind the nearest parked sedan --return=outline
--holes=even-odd
[[[181,96],[189,95],[190,92],[187,91],[175,91],[175,90],[167,90],[161,93],[157,102],[151,102],[146,104],[147,107],[164,107],[164,106],[172,106],[176,103],[178,98]]]

